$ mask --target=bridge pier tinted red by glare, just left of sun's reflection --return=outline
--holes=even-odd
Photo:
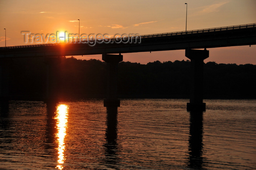
[[[58,102],[58,75],[57,65],[61,63],[61,58],[46,57],[46,94],[45,103]]]

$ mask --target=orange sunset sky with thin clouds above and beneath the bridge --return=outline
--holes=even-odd
[[[256,23],[256,0],[0,0],[0,46],[28,45],[22,31],[55,34],[156,34]],[[256,64],[256,45],[211,48],[204,60]],[[101,55],[75,56],[78,59]],[[188,60],[185,50],[125,53],[124,61]]]

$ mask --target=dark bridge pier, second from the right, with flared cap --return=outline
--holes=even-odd
[[[105,107],[120,107],[117,99],[117,71],[118,63],[123,61],[123,55],[102,54],[102,60],[108,63],[107,96],[104,99]]]

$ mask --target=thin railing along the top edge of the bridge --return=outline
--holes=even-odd
[[[256,23],[244,24],[244,25],[235,25],[235,26],[227,26],[227,27],[217,27],[217,28],[210,28],[210,29],[178,31],[178,32],[171,32],[171,33],[138,35],[137,37],[136,36],[132,37],[132,39],[136,39],[138,37],[139,38],[154,38],[154,37],[165,37],[165,36],[173,36],[173,35],[210,33],[210,32],[217,32],[217,31],[237,30],[237,29],[252,28],[252,27],[256,27]],[[116,41],[116,40],[117,40],[117,38],[108,38],[108,39],[103,39],[103,40],[102,39],[93,39],[93,40],[90,40],[90,42]],[[88,42],[88,40],[82,41],[82,42]],[[62,43],[47,43],[47,44],[34,44],[34,45],[18,45],[18,46],[0,47],[0,49],[28,48],[28,47],[37,47],[37,46],[39,47],[39,46],[53,46],[53,45],[66,45],[66,44],[79,44],[79,42],[62,42]]]

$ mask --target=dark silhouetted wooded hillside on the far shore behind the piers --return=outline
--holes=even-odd
[[[104,98],[106,63],[61,58],[57,65],[59,98]],[[189,98],[190,61],[118,64],[120,98]],[[46,92],[43,58],[15,59],[11,65],[11,99],[40,99]],[[204,64],[204,98],[255,99],[256,65]]]

